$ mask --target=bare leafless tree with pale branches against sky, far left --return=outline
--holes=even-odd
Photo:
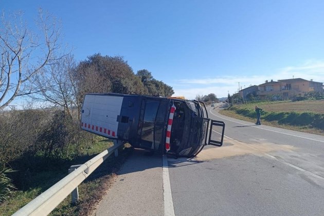
[[[0,110],[16,97],[30,95],[36,88],[33,77],[58,59],[61,26],[48,13],[39,9],[38,32],[23,21],[22,12],[5,16],[0,22]],[[62,55],[61,55],[62,56]]]

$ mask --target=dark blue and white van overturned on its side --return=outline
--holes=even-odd
[[[81,129],[134,148],[192,157],[205,145],[222,146],[225,124],[209,119],[200,101],[107,93],[85,95]]]

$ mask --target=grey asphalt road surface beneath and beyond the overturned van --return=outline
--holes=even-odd
[[[222,116],[223,147],[193,159],[135,151],[95,215],[324,215],[324,136]]]

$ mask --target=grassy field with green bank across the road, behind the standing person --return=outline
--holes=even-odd
[[[220,113],[255,122],[255,105],[261,112],[262,124],[305,133],[324,134],[324,100],[260,102],[233,105]]]

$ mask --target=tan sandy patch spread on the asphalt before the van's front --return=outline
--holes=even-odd
[[[274,143],[243,143],[236,140],[224,139],[224,145],[220,148],[209,148],[201,151],[195,160],[211,160],[244,154],[264,155],[275,151],[293,151],[295,147],[290,145],[277,145]]]

